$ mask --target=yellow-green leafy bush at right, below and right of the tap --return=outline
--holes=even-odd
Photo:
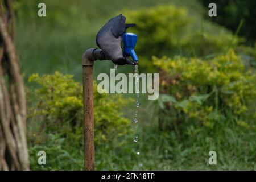
[[[160,108],[171,110],[176,121],[196,121],[213,128],[232,115],[238,125],[255,127],[248,108],[255,100],[256,75],[245,70],[234,51],[213,59],[153,58],[162,69]],[[164,105],[165,104],[165,105]],[[168,123],[166,124],[168,125]]]

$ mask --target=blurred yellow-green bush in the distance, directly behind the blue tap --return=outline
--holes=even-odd
[[[139,42],[136,50],[144,54],[150,49],[151,55],[159,55],[164,49],[178,47],[184,40],[184,27],[188,26],[191,18],[187,16],[187,9],[173,5],[157,6],[124,13],[130,22],[137,24],[133,31],[138,34]]]

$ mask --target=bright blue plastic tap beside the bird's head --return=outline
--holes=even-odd
[[[133,61],[138,61],[138,57],[134,51],[137,42],[137,35],[133,33],[123,34],[123,54],[131,56]]]

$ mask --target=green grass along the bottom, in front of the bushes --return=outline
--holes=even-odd
[[[235,135],[235,138],[230,137]],[[118,142],[106,141],[96,146],[97,170],[255,170],[255,142],[247,142],[242,136],[236,136],[232,130],[227,130],[225,143],[218,143],[222,138],[210,135],[197,137],[199,141],[181,143],[174,132],[161,133],[152,127],[141,127],[139,131],[139,151],[135,154],[131,136],[126,136]],[[244,135],[244,134],[243,134]],[[251,136],[250,136],[251,135]],[[250,133],[247,137],[254,137]],[[232,138],[232,139],[231,139]],[[56,141],[56,140],[55,140]],[[51,143],[53,144],[53,143]],[[56,144],[56,143],[55,143]],[[47,145],[46,145],[47,146]],[[65,141],[59,146],[40,146],[30,154],[39,150],[47,151],[46,169],[81,170],[84,159],[81,148],[67,146]],[[216,150],[217,165],[208,164],[208,152]],[[40,169],[37,156],[32,156],[32,169]],[[138,167],[138,164],[143,164]]]

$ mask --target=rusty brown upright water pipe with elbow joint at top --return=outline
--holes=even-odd
[[[82,56],[84,95],[84,169],[94,170],[93,63],[104,60],[100,49],[90,48]]]

